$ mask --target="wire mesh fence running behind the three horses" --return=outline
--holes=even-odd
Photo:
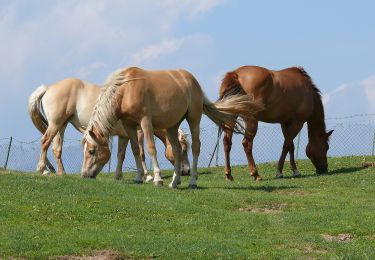
[[[375,152],[375,116],[365,115],[366,120],[353,122],[353,118],[358,119],[361,115],[344,118],[327,119],[327,129],[333,129],[334,133],[330,139],[330,149],[328,156],[365,156],[374,155]],[[363,118],[362,118],[363,119]],[[358,121],[358,120],[357,120]],[[217,139],[217,127],[209,124],[201,128],[201,154],[199,157],[199,167],[207,167],[210,159],[211,165],[224,165],[224,152],[222,140]],[[188,133],[187,129],[184,129]],[[231,163],[233,165],[247,164],[246,155],[242,148],[242,136],[233,136],[231,151]],[[283,144],[283,135],[278,124],[260,124],[257,135],[254,139],[253,155],[257,163],[277,161]],[[307,145],[307,127],[304,125],[300,134],[295,138],[295,157],[306,159],[305,147]],[[215,154],[214,148],[218,143]],[[103,172],[113,172],[117,164],[117,138],[113,138],[111,143],[112,155],[110,161],[103,168]],[[173,166],[164,157],[164,146],[156,139],[159,164],[162,169],[171,169]],[[30,142],[23,142],[15,138],[0,139],[0,168],[11,170],[34,172],[40,155],[40,138]],[[48,158],[53,165],[55,161],[51,152],[48,151]],[[191,154],[189,153],[191,160]],[[83,153],[80,140],[64,140],[62,160],[66,172],[78,173],[82,167]],[[151,168],[149,157],[146,155],[146,164]],[[56,167],[55,167],[56,168]],[[126,151],[123,171],[134,171],[136,169],[134,157],[130,145]]]

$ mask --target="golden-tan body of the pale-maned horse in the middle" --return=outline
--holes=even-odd
[[[199,91],[201,93],[200,89],[197,91],[194,77],[185,70],[143,70],[132,67],[125,69],[121,75],[129,81],[119,90],[120,113],[132,121],[150,116],[155,129],[172,126],[180,121],[194,96]]]

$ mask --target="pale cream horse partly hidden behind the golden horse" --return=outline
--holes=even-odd
[[[97,85],[83,82],[79,79],[68,78],[49,87],[41,86],[30,95],[30,117],[36,128],[43,134],[41,156],[37,171],[44,173],[46,171],[46,164],[49,169],[54,171],[53,166],[46,157],[48,147],[53,140],[53,154],[57,162],[58,173],[63,174],[65,172],[61,159],[65,128],[68,123],[71,123],[78,131],[81,133],[84,132],[100,91],[101,88]],[[147,175],[143,150],[143,133],[139,129],[137,134],[142,165]],[[122,164],[129,137],[120,122],[116,123],[111,135],[119,136],[118,161],[115,176],[117,179],[120,179],[122,177]],[[155,135],[165,145],[167,159],[174,164],[172,147],[166,138],[165,130],[155,131]],[[188,175],[190,171],[187,156],[188,142],[186,134],[182,130],[179,131],[179,140],[182,148],[182,174]],[[148,175],[146,180],[149,181],[150,179],[152,179],[152,176]]]

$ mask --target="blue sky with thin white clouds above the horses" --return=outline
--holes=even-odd
[[[301,65],[327,117],[375,113],[374,10],[366,0],[0,0],[0,138],[39,136],[27,99],[42,83],[101,84],[134,65],[188,69],[211,100],[236,67]]]

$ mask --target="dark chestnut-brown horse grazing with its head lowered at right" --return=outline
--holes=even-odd
[[[220,87],[220,99],[231,95],[247,94],[264,105],[265,109],[252,118],[244,119],[246,135],[242,141],[250,174],[261,180],[255,166],[252,148],[258,121],[280,123],[284,145],[278,162],[276,177],[283,177],[282,170],[287,153],[293,176],[300,176],[294,160],[293,139],[307,122],[309,143],[306,154],[316,168],[317,174],[327,173],[328,141],[332,131],[326,132],[324,110],[319,89],[301,67],[272,71],[257,66],[244,66],[228,72]],[[226,179],[233,180],[230,166],[232,131],[224,129],[224,153]]]

